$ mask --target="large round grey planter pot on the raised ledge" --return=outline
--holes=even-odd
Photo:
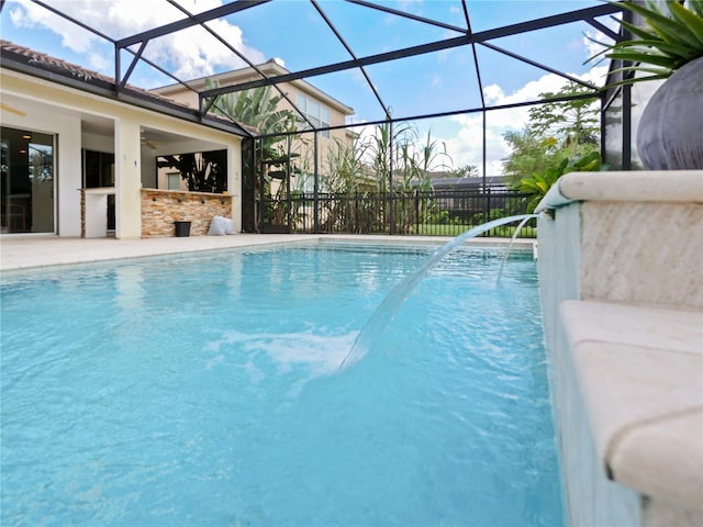
[[[648,170],[703,169],[703,57],[669,77],[647,103],[637,153]]]

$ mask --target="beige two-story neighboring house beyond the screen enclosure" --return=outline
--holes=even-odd
[[[268,78],[289,74],[281,61],[276,58],[258,65],[256,68]],[[261,76],[254,68],[242,68],[214,75],[209,77],[209,79],[214,80],[220,87],[230,87],[252,80],[260,80]],[[189,108],[198,109],[198,92],[205,89],[205,78],[190,80],[186,82],[186,85],[187,86],[169,85],[153,89],[152,91],[179,101]],[[333,147],[334,142],[338,141],[343,144],[350,145],[356,137],[354,132],[342,127],[346,123],[346,117],[354,114],[354,110],[304,80],[282,82],[278,85],[278,88],[288,97],[288,100],[284,98],[281,99],[278,106],[279,110],[291,110],[299,116],[302,114],[314,127],[341,126],[341,128],[337,130],[322,131],[317,135],[317,166],[321,171],[324,171],[327,161],[326,153],[328,148]],[[271,94],[279,96],[280,92],[277,91],[276,88],[271,88]],[[308,125],[302,123],[301,127],[308,127]],[[300,154],[297,162],[299,164],[298,168],[303,170],[303,177],[298,178],[294,187],[305,187],[305,190],[312,191],[312,177],[304,177],[305,175],[311,175],[314,166],[312,134],[305,134],[303,137],[303,141],[293,141],[291,146],[292,152]],[[159,184],[161,183],[159,182]],[[163,184],[167,184],[166,177],[164,177]]]

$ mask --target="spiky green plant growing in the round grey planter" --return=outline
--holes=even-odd
[[[633,1],[618,3],[640,15],[647,26],[640,27],[618,20],[617,22],[637,38],[607,46],[589,61],[605,56],[613,60],[633,63],[616,71],[648,74],[644,77],[624,78],[615,82],[615,86],[670,77],[682,66],[703,57],[703,0],[688,0],[687,3],[690,9],[676,0],[667,0],[668,14],[651,0],[648,0],[646,5]]]

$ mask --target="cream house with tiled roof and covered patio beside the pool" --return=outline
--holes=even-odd
[[[157,157],[209,150],[226,152],[241,225],[243,128],[7,41],[0,53],[0,234],[80,236],[108,221],[138,238]]]

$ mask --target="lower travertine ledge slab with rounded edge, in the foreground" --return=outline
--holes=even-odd
[[[703,313],[566,301],[599,459],[638,492],[703,504]]]

